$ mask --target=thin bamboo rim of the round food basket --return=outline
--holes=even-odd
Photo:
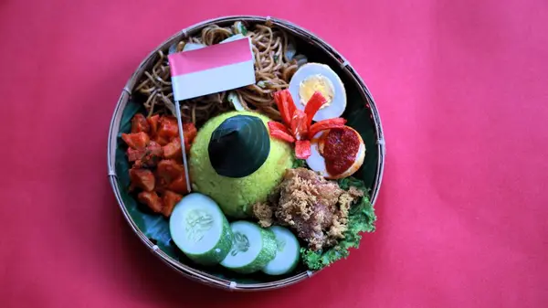
[[[108,176],[109,176],[109,181],[111,183],[111,188],[114,193],[114,196],[116,197],[116,200],[118,201],[118,205],[121,208],[121,212],[125,220],[130,225],[130,228],[132,228],[133,232],[137,235],[137,237],[141,239],[142,243],[149,250],[151,250],[151,252],[153,252],[153,254],[156,257],[162,260],[163,263],[168,265],[171,269],[183,274],[185,277],[193,281],[198,281],[208,286],[215,287],[217,289],[223,289],[228,291],[247,291],[247,292],[265,291],[265,290],[279,289],[282,287],[290,286],[294,283],[297,283],[312,277],[318,271],[300,272],[299,274],[296,274],[294,276],[291,276],[289,278],[279,280],[279,281],[269,281],[269,282],[260,282],[260,283],[237,283],[236,281],[228,281],[226,279],[218,278],[204,271],[195,270],[194,268],[188,265],[185,265],[179,262],[178,260],[174,260],[174,258],[168,256],[166,253],[160,250],[158,246],[155,245],[150,239],[148,239],[144,235],[144,233],[138,228],[136,223],[132,220],[132,217],[130,216],[128,210],[126,209],[123,203],[123,200],[121,199],[121,191],[117,183],[117,175],[116,175],[116,169],[115,169],[116,144],[117,144],[117,135],[120,130],[121,114],[123,110],[125,109],[132,95],[132,90],[135,87],[137,81],[141,79],[145,69],[148,69],[151,66],[151,64],[153,64],[153,62],[156,60],[158,50],[166,50],[175,41],[179,41],[180,39],[184,37],[193,36],[196,32],[201,31],[203,27],[209,26],[211,24],[227,24],[227,23],[231,23],[231,22],[233,23],[236,21],[244,21],[244,22],[250,22],[250,23],[259,23],[259,22],[269,21],[274,26],[288,31],[288,33],[290,33],[291,35],[300,37],[312,43],[314,46],[321,48],[326,55],[335,59],[341,65],[342,70],[348,75],[348,77],[352,78],[353,82],[355,82],[358,85],[360,94],[363,96],[364,101],[367,102],[368,108],[371,110],[371,113],[373,114],[372,120],[374,122],[374,132],[376,133],[376,138],[377,138],[377,142],[376,142],[377,151],[378,151],[377,172],[374,178],[374,185],[371,191],[371,203],[374,205],[383,181],[386,146],[385,146],[385,136],[383,133],[381,119],[380,119],[377,107],[374,103],[374,99],[371,92],[365,85],[364,80],[362,80],[362,78],[355,72],[351,64],[345,58],[343,58],[342,55],[337,50],[332,48],[320,37],[313,34],[311,31],[304,29],[303,27],[299,27],[295,24],[290,23],[287,20],[274,18],[270,16],[222,16],[222,17],[207,19],[205,21],[196,23],[193,26],[184,28],[183,30],[175,33],[172,37],[169,37],[166,40],[164,40],[162,44],[160,44],[157,48],[154,48],[153,51],[149,53],[149,55],[142,60],[138,68],[132,73],[131,78],[127,81],[127,83],[123,87],[121,91],[121,96],[116,104],[116,107],[114,108],[114,112],[111,118],[110,130],[109,130],[109,143],[107,147]]]

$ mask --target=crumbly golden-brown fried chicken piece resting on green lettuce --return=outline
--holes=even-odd
[[[253,211],[262,227],[273,223],[288,226],[311,250],[321,250],[344,238],[348,211],[359,196],[363,193],[355,187],[344,191],[336,182],[306,168],[288,169],[279,190],[269,202],[256,204]]]

